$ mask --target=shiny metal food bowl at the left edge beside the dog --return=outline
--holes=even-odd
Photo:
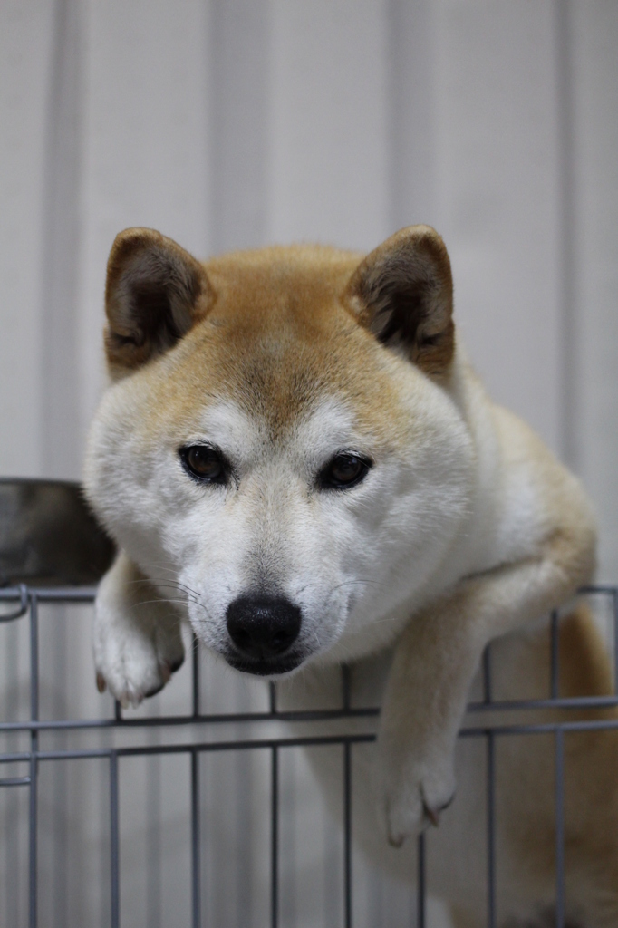
[[[0,586],[92,586],[114,553],[79,483],[0,479]]]

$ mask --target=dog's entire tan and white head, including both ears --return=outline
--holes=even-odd
[[[87,493],[161,595],[255,674],[392,638],[470,495],[442,239],[200,264],[129,229],[106,301]]]

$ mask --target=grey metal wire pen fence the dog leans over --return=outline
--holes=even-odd
[[[613,625],[612,648],[614,669],[618,666],[618,587],[595,586],[582,591],[587,597],[600,602]],[[95,596],[95,590],[85,587],[71,588],[29,588],[19,586],[0,589],[0,623],[4,626],[20,625],[22,635],[28,638],[28,692],[27,709],[20,713],[14,705],[15,715],[23,717],[6,717],[0,722],[0,764],[5,771],[0,776],[0,787],[4,791],[25,791],[27,793],[27,904],[23,915],[27,917],[29,928],[36,928],[42,923],[40,881],[38,876],[40,860],[40,789],[42,770],[49,765],[58,765],[70,760],[90,759],[98,765],[107,767],[108,793],[105,799],[109,832],[107,835],[107,880],[109,886],[108,908],[106,918],[112,928],[121,925],[121,891],[122,875],[120,857],[122,835],[120,826],[119,791],[121,784],[122,763],[129,758],[152,758],[163,755],[184,755],[189,763],[188,790],[190,793],[190,920],[193,928],[208,923],[204,913],[204,861],[202,860],[203,840],[200,833],[208,829],[209,822],[203,814],[200,802],[200,789],[203,782],[200,766],[205,756],[220,753],[261,753],[267,758],[269,797],[266,818],[266,843],[268,845],[267,867],[268,902],[267,918],[272,928],[283,925],[281,918],[281,761],[286,752],[296,747],[329,747],[341,752],[341,875],[337,892],[341,898],[341,923],[345,928],[354,925],[354,859],[353,859],[353,778],[354,751],[357,745],[375,739],[372,730],[358,732],[345,730],[346,721],[359,718],[370,722],[378,715],[374,707],[355,707],[350,698],[350,679],[346,668],[341,671],[341,705],[319,711],[284,712],[277,707],[277,694],[271,686],[269,704],[249,711],[207,711],[204,706],[200,687],[200,652],[192,649],[188,662],[190,673],[190,711],[182,715],[149,715],[125,717],[118,703],[115,703],[109,717],[63,717],[60,714],[43,717],[40,697],[40,664],[42,658],[41,635],[45,623],[53,621],[54,611],[42,618],[45,607],[56,609],[62,607],[70,612],[76,608],[89,606]],[[45,629],[45,634],[48,629]],[[52,629],[53,631],[53,629]],[[495,757],[496,741],[522,734],[549,734],[554,739],[555,756],[555,924],[564,928],[565,924],[565,870],[564,870],[564,738],[570,731],[586,729],[616,728],[618,720],[612,717],[587,718],[563,721],[538,722],[530,724],[496,725],[490,716],[500,710],[544,711],[548,708],[568,710],[607,709],[618,704],[615,695],[580,696],[560,698],[559,696],[559,636],[560,624],[554,614],[549,625],[550,668],[549,691],[547,698],[526,701],[499,702],[493,698],[491,648],[485,651],[483,658],[483,698],[470,703],[469,710],[478,724],[467,725],[460,732],[461,738],[480,739],[485,743],[486,756],[486,923],[488,928],[496,926],[496,775]],[[186,671],[185,671],[186,673]],[[614,681],[616,674],[614,672]],[[615,691],[615,684],[614,684]],[[111,701],[110,708],[111,708]],[[10,706],[8,710],[10,711]],[[48,717],[49,716],[49,717]],[[59,717],[58,717],[59,716]],[[468,716],[470,717],[470,715]],[[343,726],[341,733],[315,733],[316,726],[339,720]],[[295,723],[295,732],[303,723],[311,723],[311,731],[304,736],[290,732],[280,723]],[[144,742],[145,733],[157,730],[160,733],[158,743]],[[225,737],[221,732],[225,731]],[[84,744],[84,736],[98,733],[104,735],[104,743]],[[62,744],[55,742],[51,746],[45,743],[50,737],[61,735]],[[81,739],[81,740],[80,740]],[[105,741],[107,739],[107,741]],[[25,806],[24,806],[25,811]],[[24,823],[22,822],[22,825]],[[24,826],[25,827],[25,826]],[[3,829],[5,835],[8,833]],[[410,924],[424,928],[427,915],[426,854],[425,836],[418,839],[418,891],[413,898],[410,911]],[[413,910],[412,910],[413,909]],[[20,923],[25,924],[25,917]]]

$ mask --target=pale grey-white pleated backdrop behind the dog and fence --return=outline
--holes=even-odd
[[[3,0],[0,476],[79,478],[105,381],[106,258],[125,226],[158,228],[207,256],[292,240],[368,250],[426,222],[451,254],[469,354],[496,399],[586,483],[599,576],[615,582],[617,152],[616,0]],[[97,714],[99,697],[84,696],[87,629],[80,635],[83,690],[70,687],[63,705],[94,700]],[[54,674],[72,673],[58,640],[55,692]],[[8,638],[3,647],[14,693],[17,651]],[[222,686],[235,706],[249,698],[227,677]],[[135,819],[136,842],[156,832],[150,889],[135,889],[151,905],[142,912],[127,896],[127,925],[187,923],[180,883],[165,896],[156,876],[186,837],[178,825],[174,851],[157,818],[168,768],[161,762],[148,787],[146,823]],[[237,765],[240,791],[248,770]],[[60,821],[71,801],[54,789]],[[51,845],[68,852],[73,838],[54,827]],[[86,831],[83,844],[98,840]],[[337,840],[327,834],[324,846],[335,853]],[[85,854],[79,846],[73,857]],[[249,892],[241,876],[228,887],[240,909],[225,914],[222,902],[208,922],[216,928],[253,923],[238,902]],[[379,912],[384,892],[374,890]],[[174,916],[155,914],[157,893]],[[71,921],[63,894],[54,898],[45,924],[98,923],[94,903]],[[286,924],[328,923],[324,911],[312,922],[289,905]],[[0,897],[0,923],[22,924],[17,907]]]

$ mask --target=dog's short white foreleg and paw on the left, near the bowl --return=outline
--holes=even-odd
[[[125,707],[159,692],[185,659],[177,612],[122,551],[98,588],[94,651],[98,689]]]

